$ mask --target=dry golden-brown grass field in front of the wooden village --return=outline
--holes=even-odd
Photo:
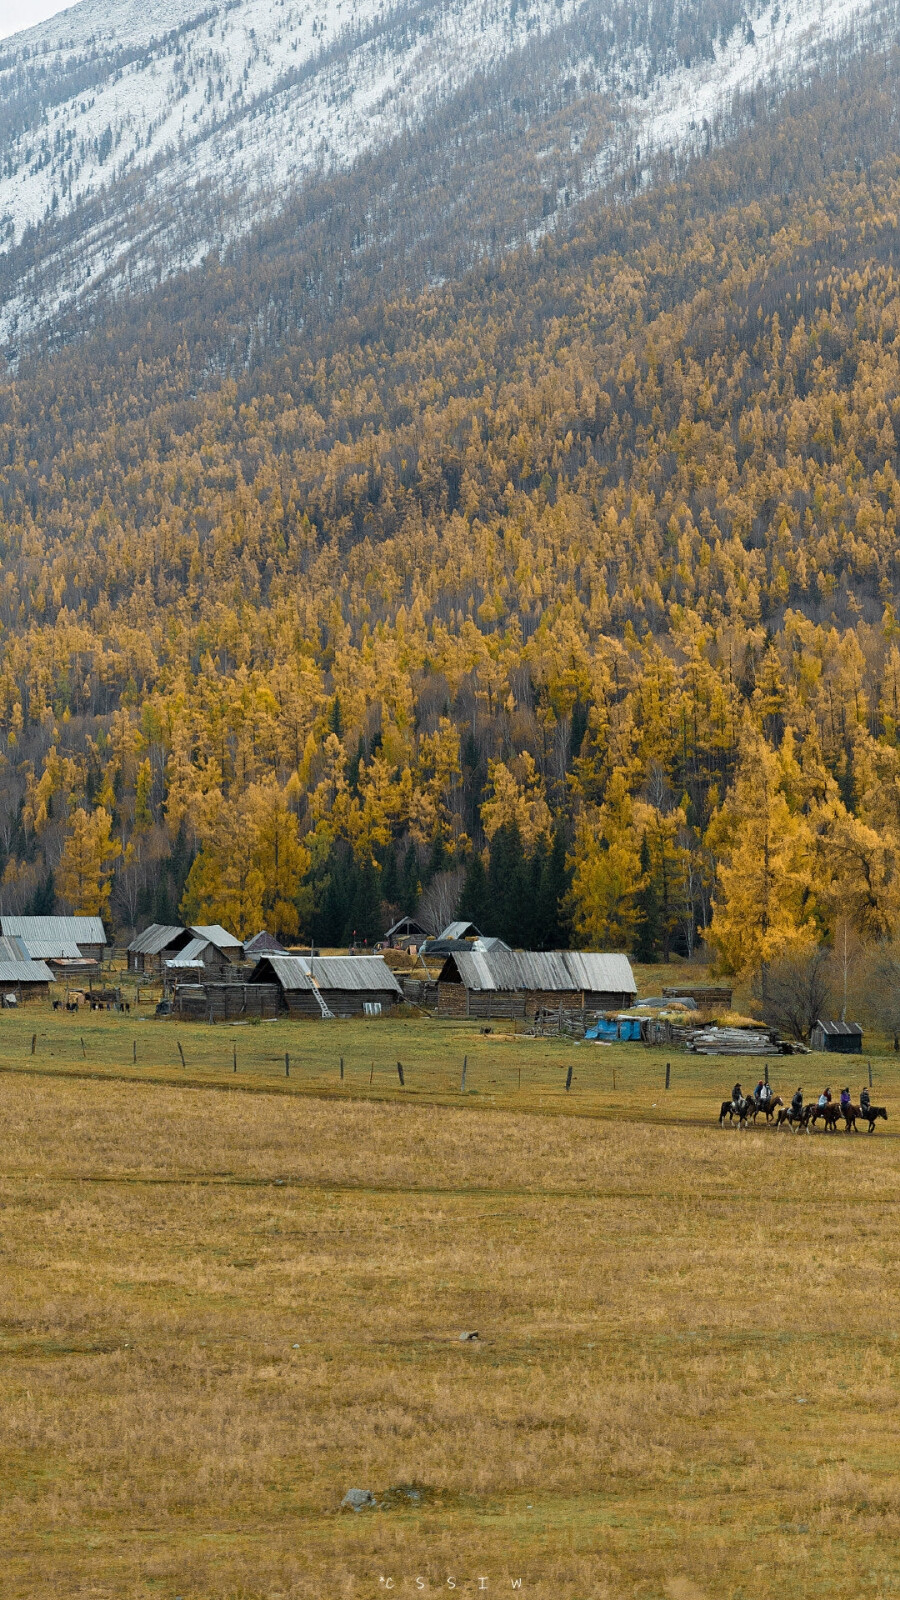
[[[665,1059],[3,1014],[3,1597],[897,1595],[900,1070]]]

